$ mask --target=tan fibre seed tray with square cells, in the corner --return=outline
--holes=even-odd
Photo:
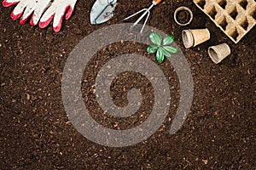
[[[194,3],[235,43],[256,24],[255,0],[194,0]]]

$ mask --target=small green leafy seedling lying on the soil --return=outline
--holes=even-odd
[[[171,58],[172,54],[177,53],[177,48],[170,46],[174,42],[173,35],[169,35],[163,39],[159,34],[151,32],[149,38],[154,44],[148,46],[147,52],[149,54],[156,53],[155,58],[159,63],[164,61],[165,56]]]

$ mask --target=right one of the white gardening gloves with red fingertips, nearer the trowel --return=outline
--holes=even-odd
[[[47,8],[39,21],[40,28],[48,26],[50,21],[53,19],[54,31],[60,31],[63,16],[65,15],[65,19],[68,20],[73,14],[73,8],[76,3],[77,0],[55,0],[51,3],[49,8]]]

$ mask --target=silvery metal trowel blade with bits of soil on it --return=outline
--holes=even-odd
[[[102,24],[113,17],[117,0],[96,0],[90,10],[90,24]]]

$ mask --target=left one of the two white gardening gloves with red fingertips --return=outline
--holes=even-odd
[[[24,25],[26,20],[32,15],[30,24],[36,26],[45,8],[49,6],[50,0],[3,0],[3,7],[9,7],[16,3],[18,4],[11,13],[11,18],[13,20],[20,18],[20,25]]]

